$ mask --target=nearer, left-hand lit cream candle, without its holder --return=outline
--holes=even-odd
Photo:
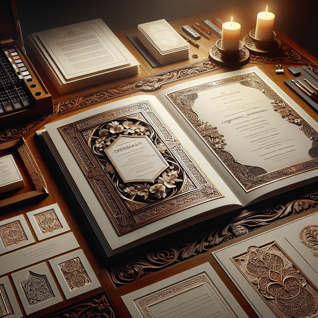
[[[239,49],[239,36],[241,34],[241,24],[225,22],[222,24],[221,49],[225,51],[237,51]]]

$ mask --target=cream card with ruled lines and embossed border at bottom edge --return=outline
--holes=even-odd
[[[247,317],[209,263],[121,298],[133,317]]]

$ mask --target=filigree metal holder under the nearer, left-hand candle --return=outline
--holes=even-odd
[[[222,63],[242,63],[250,57],[250,52],[245,48],[242,41],[239,41],[239,49],[237,51],[225,51],[221,49],[221,41],[219,39],[209,51],[211,59]]]

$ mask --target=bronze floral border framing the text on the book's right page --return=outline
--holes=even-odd
[[[282,118],[299,126],[299,129],[312,140],[312,146],[308,150],[311,160],[296,163],[294,165],[267,172],[261,167],[244,165],[235,160],[235,157],[226,150],[225,139],[213,124],[204,122],[195,110],[195,100],[198,92],[223,85],[239,83],[243,86],[254,87],[273,100],[273,110]],[[183,88],[166,95],[171,103],[179,110],[191,127],[202,138],[211,151],[223,163],[225,168],[232,174],[235,180],[242,186],[245,192],[249,192],[268,183],[287,178],[301,172],[318,168],[318,131],[315,130],[300,114],[294,110],[264,79],[256,72],[249,72],[228,78],[221,78],[200,85]]]

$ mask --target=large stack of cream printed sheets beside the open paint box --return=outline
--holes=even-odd
[[[101,19],[32,33],[30,48],[59,93],[139,73],[139,63]]]

